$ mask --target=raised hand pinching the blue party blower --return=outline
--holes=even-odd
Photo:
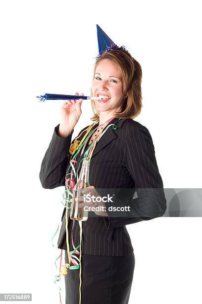
[[[79,95],[78,92],[75,95]],[[80,93],[80,96],[84,96],[83,93]],[[79,117],[81,116],[81,104],[83,99],[78,100],[71,99],[65,100],[61,107],[61,122],[59,125],[58,133],[61,137],[67,137],[74,126],[77,124]]]

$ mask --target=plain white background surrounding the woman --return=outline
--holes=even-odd
[[[136,120],[152,135],[164,187],[202,188],[200,4],[1,1],[0,293],[59,304],[53,280],[60,250],[50,240],[64,187],[42,188],[39,172],[62,102],[39,103],[36,95],[90,94],[96,24],[142,66],[144,107]],[[91,102],[83,101],[73,137],[91,115]],[[163,217],[127,228],[136,259],[130,304],[201,304],[201,218]]]

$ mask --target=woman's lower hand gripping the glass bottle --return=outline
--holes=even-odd
[[[84,202],[84,196],[79,196],[78,197],[78,202],[79,202],[78,207],[79,208],[83,208],[85,206],[88,206],[89,211],[91,211],[91,207],[99,207],[99,208],[97,208],[99,210],[94,211],[95,214],[98,215],[98,216],[107,217],[107,212],[105,211],[106,206],[105,206],[104,202],[101,201],[101,196],[96,191],[94,186],[89,186],[87,188],[82,189],[81,193],[84,194],[85,196],[90,193],[90,197],[88,199],[88,202],[87,201]],[[94,196],[94,198],[92,196]],[[96,198],[97,197],[99,197],[100,200],[99,200],[99,202],[96,203]],[[77,198],[75,198],[75,200],[77,200]],[[87,198],[85,200],[87,200]]]

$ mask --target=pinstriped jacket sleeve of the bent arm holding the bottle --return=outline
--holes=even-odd
[[[158,171],[152,137],[141,124],[128,125],[125,142],[125,163],[135,182],[137,198],[120,200],[114,198],[113,206],[129,206],[127,212],[111,212],[111,203],[105,203],[107,228],[116,228],[162,216],[166,210],[163,182]],[[126,190],[126,189],[124,189]]]

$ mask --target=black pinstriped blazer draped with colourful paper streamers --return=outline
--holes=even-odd
[[[118,121],[118,118],[114,118],[109,122],[109,124],[112,123],[117,128],[113,129],[114,126],[110,126],[93,152],[89,173],[90,184],[100,189],[135,188],[138,197],[127,201],[133,205],[132,216],[131,214],[123,217],[95,216],[82,222],[82,253],[84,254],[102,256],[130,254],[133,252],[133,246],[125,225],[160,217],[166,210],[163,183],[158,171],[150,132],[146,127],[132,119]],[[67,138],[61,138],[58,136],[58,128],[59,125],[54,128],[49,148],[41,165],[40,180],[46,189],[65,186],[66,169],[71,157],[69,147],[74,142],[74,140],[71,142],[73,131]],[[83,136],[84,134],[78,140],[81,140]],[[78,163],[83,157],[84,154],[78,154],[76,158]],[[160,188],[162,191],[157,195],[155,191],[150,191],[149,195],[142,195],[138,188],[152,188],[152,190]],[[120,199],[117,202],[119,205],[122,204]],[[70,209],[68,209],[68,239],[71,251],[73,246],[70,233],[73,221],[70,220],[69,214]],[[58,248],[61,249],[67,249],[64,215],[65,208],[57,243]],[[79,231],[79,223],[74,221],[73,241],[75,246],[80,243]]]

